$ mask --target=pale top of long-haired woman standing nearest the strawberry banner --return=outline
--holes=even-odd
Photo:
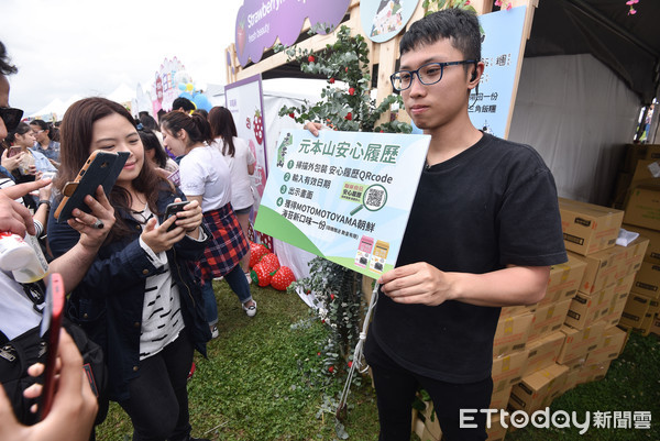
[[[242,210],[254,203],[248,166],[256,163],[256,159],[245,140],[234,136],[233,143],[235,153],[233,157],[226,155],[224,161],[231,172],[231,205],[234,210]],[[222,152],[224,142],[222,137],[217,137],[211,145]]]

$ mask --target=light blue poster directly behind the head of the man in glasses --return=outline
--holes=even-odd
[[[514,86],[521,62],[520,42],[527,7],[480,15],[483,29],[484,75],[470,96],[470,120],[475,128],[505,137],[512,112]]]

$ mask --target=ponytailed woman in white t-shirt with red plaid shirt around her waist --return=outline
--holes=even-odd
[[[256,302],[240,265],[250,245],[231,207],[231,175],[222,153],[209,145],[211,128],[201,114],[169,112],[161,120],[161,129],[165,146],[177,156],[185,155],[179,164],[182,189],[188,199],[201,205],[204,222],[213,235],[199,272],[207,321],[217,337],[215,277],[224,277],[249,317],[256,315]]]

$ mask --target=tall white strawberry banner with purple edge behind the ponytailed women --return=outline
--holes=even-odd
[[[241,81],[224,86],[224,107],[231,112],[239,137],[248,141],[250,151],[256,158],[254,174],[252,175],[252,187],[255,191],[254,209],[250,214],[250,221],[254,222],[256,207],[264,194],[266,185],[267,158],[266,158],[266,130],[264,126],[264,101],[261,75],[245,78]],[[255,238],[258,243],[265,243],[271,250],[273,243],[271,238]]]

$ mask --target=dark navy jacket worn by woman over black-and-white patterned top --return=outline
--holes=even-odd
[[[183,194],[161,191],[158,212]],[[140,334],[145,280],[157,274],[140,246],[142,225],[128,212],[120,216],[135,229],[129,238],[107,243],[99,250],[80,284],[67,300],[67,316],[82,327],[89,338],[103,348],[109,371],[109,397],[121,401],[129,398],[129,382],[140,375]],[[158,217],[163,222],[163,218]],[[207,234],[210,236],[210,234]],[[79,233],[67,223],[48,221],[48,243],[55,257],[66,253],[78,241]],[[210,331],[205,319],[199,283],[189,269],[189,262],[202,257],[207,242],[184,236],[166,252],[172,277],[179,288],[182,315],[190,338],[206,356]]]

